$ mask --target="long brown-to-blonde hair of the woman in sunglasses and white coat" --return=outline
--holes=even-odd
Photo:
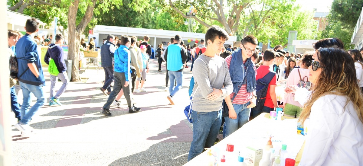
[[[347,51],[330,47],[320,48],[318,59],[322,68],[311,96],[303,106],[299,121],[304,122],[311,112],[311,106],[321,96],[334,94],[347,96],[346,105],[351,102],[359,120],[363,123],[363,95],[356,80],[353,58]]]

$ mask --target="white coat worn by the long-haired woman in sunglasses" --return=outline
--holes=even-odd
[[[325,95],[314,102],[299,166],[363,165],[363,124],[347,99]]]

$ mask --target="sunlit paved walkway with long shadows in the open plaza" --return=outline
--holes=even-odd
[[[20,136],[13,128],[14,166],[180,166],[187,162],[192,141],[192,124],[183,113],[188,105],[190,68],[184,70],[183,88],[169,105],[165,89],[165,65],[158,72],[156,59],[151,59],[145,88],[148,92],[134,93],[138,113],[128,113],[111,105],[112,116],[100,113],[107,96],[99,88],[104,80],[103,70],[81,71],[85,83],[70,82],[61,96],[62,106],[46,103],[33,117],[30,126],[37,130],[32,137]],[[190,67],[191,63],[188,63]],[[47,71],[44,72],[48,74]],[[49,98],[49,74],[45,95]],[[61,86],[57,82],[56,89]],[[32,98],[35,102],[35,97]],[[22,102],[21,91],[19,102]],[[11,113],[10,117],[16,123]]]

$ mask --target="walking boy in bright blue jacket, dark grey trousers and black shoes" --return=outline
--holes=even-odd
[[[131,86],[129,86],[129,80],[131,79],[130,74],[130,62],[131,55],[129,51],[129,47],[131,44],[131,38],[128,36],[121,36],[121,45],[115,50],[114,53],[114,61],[115,61],[115,70],[114,70],[114,87],[111,92],[109,99],[105,105],[103,105],[102,113],[106,116],[111,116],[110,113],[110,105],[115,100],[117,94],[120,92],[121,88],[123,90],[123,94],[125,95],[127,105],[129,105],[129,113],[139,112],[141,108],[137,108],[134,106],[132,102],[132,97],[130,97]]]

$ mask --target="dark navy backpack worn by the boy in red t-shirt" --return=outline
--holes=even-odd
[[[256,80],[257,99],[256,99],[256,107],[254,107],[253,109],[261,110],[264,107],[269,83],[271,82],[271,80],[275,75],[276,75],[275,72],[270,71],[263,78]]]

